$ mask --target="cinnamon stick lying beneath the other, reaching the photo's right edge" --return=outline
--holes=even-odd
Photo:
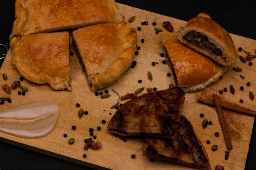
[[[215,106],[214,102],[211,100],[207,100],[207,99],[202,99],[202,98],[198,98],[198,102],[201,102],[205,105],[210,105],[210,106]],[[220,102],[221,108],[229,110],[229,111],[234,111],[237,113],[242,113],[242,114],[246,114],[249,116],[255,116],[256,115],[256,111],[247,109],[247,108],[243,108],[241,106],[232,104],[232,103],[228,103],[225,101],[221,101]]]

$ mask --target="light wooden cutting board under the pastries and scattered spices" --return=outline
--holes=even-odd
[[[170,83],[174,83],[173,77],[168,77],[167,73],[171,72],[167,64],[162,64],[164,60],[160,56],[162,52],[160,47],[161,36],[175,36],[176,32],[186,22],[177,20],[175,18],[166,17],[160,14],[155,14],[149,11],[129,7],[127,5],[117,4],[122,14],[125,16],[125,21],[128,23],[128,19],[131,16],[136,16],[133,23],[128,23],[131,27],[137,28],[141,26],[142,30],[137,31],[137,46],[140,46],[139,54],[135,56],[134,60],[137,61],[135,68],[129,68],[119,80],[114,82],[111,86],[102,90],[108,89],[111,95],[107,99],[101,99],[100,96],[95,96],[87,83],[86,78],[82,72],[81,66],[78,62],[76,55],[70,56],[70,85],[71,91],[54,91],[49,85],[39,85],[35,83],[23,80],[21,84],[26,86],[29,91],[25,96],[18,95],[19,89],[12,90],[11,99],[12,102],[5,102],[4,105],[0,105],[0,111],[8,108],[12,108],[17,105],[40,101],[50,100],[58,104],[61,110],[61,114],[58,119],[58,123],[55,129],[47,136],[39,139],[23,139],[7,135],[0,132],[0,141],[14,144],[20,147],[24,147],[30,150],[35,150],[40,153],[55,156],[61,159],[65,159],[71,162],[76,162],[81,165],[93,167],[93,168],[110,168],[110,169],[191,169],[190,167],[170,163],[166,161],[155,160],[150,162],[149,157],[142,156],[142,148],[144,144],[143,139],[133,138],[126,142],[116,138],[107,131],[107,125],[111,117],[114,115],[116,109],[110,107],[117,102],[118,96],[111,89],[117,91],[120,96],[126,93],[134,93],[134,91],[140,87],[157,87],[157,90],[167,89]],[[141,22],[148,21],[148,25],[141,25]],[[155,21],[157,26],[161,27],[164,31],[155,34],[152,22]],[[163,21],[170,21],[174,27],[174,32],[170,33],[162,26]],[[255,53],[256,41],[248,38],[244,38],[238,35],[231,35],[235,43],[236,49],[243,47],[246,51]],[[141,43],[141,39],[145,42]],[[73,47],[70,46],[70,50]],[[238,52],[239,55],[246,56],[244,52]],[[254,59],[255,60],[255,59]],[[221,99],[227,100],[232,103],[236,103],[245,108],[256,110],[255,101],[249,99],[249,91],[256,94],[255,91],[255,72],[256,63],[252,60],[253,65],[249,66],[248,62],[242,63],[237,59],[235,66],[243,68],[242,72],[235,72],[232,70],[233,66],[228,68],[228,71],[223,74],[223,78],[218,80],[217,83],[211,84],[204,90],[197,92],[186,93],[185,103],[182,114],[188,118],[192,123],[195,133],[202,141],[211,163],[211,167],[214,169],[216,164],[224,165],[225,169],[244,169],[246,157],[248,153],[249,142],[251,138],[251,131],[254,122],[254,117],[224,111],[225,120],[228,124],[227,129],[231,136],[231,142],[233,149],[229,154],[229,159],[225,160],[226,145],[221,131],[220,123],[218,120],[216,109],[210,106],[206,106],[197,102],[198,97],[210,98],[212,94],[217,93]],[[152,62],[157,62],[155,66],[152,66]],[[153,80],[148,80],[147,72],[150,71],[153,76]],[[5,81],[0,79],[0,84],[8,84],[14,80],[18,80],[20,74],[11,65],[11,52],[9,50],[5,61],[0,69],[0,74],[7,74],[8,79]],[[239,75],[245,77],[243,80]],[[142,83],[138,83],[141,79]],[[250,82],[251,86],[247,87],[246,83]],[[233,85],[235,88],[234,95],[229,92],[219,94],[219,90]],[[239,90],[239,87],[243,86],[244,90]],[[146,93],[144,90],[142,93]],[[139,94],[139,95],[140,95]],[[2,90],[0,96],[5,95]],[[239,100],[243,99],[243,103],[239,103]],[[120,103],[124,103],[121,101]],[[88,111],[88,115],[84,115],[81,119],[78,117],[78,110],[75,105],[80,103],[80,108],[84,111]],[[203,113],[204,118],[208,121],[212,121],[212,125],[208,125],[205,129],[202,128],[202,121],[204,118],[199,117],[199,114]],[[106,123],[102,124],[101,120],[105,119]],[[72,130],[72,126],[76,126],[76,130]],[[101,126],[101,130],[97,131],[97,126]],[[94,135],[97,136],[96,141],[102,143],[102,147],[99,150],[84,150],[84,139],[88,139],[89,128],[94,129]],[[220,136],[215,137],[214,133],[219,132]],[[63,134],[67,134],[67,138],[63,137]],[[75,138],[74,144],[68,144],[70,138]],[[210,144],[206,144],[206,141],[210,140]],[[211,147],[217,144],[218,149],[212,151]],[[86,153],[87,157],[83,158],[83,154]],[[135,154],[136,158],[132,159],[131,155]]]

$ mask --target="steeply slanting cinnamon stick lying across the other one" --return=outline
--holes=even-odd
[[[227,150],[231,150],[233,147],[232,147],[232,144],[231,144],[231,141],[230,141],[230,138],[229,138],[229,134],[228,134],[228,131],[227,131],[227,128],[226,128],[226,122],[225,122],[225,119],[224,119],[224,116],[223,116],[223,113],[222,113],[222,109],[221,109],[221,106],[220,106],[220,101],[218,99],[217,94],[212,95],[212,98],[213,98],[213,102],[215,104],[215,107],[217,108],[217,113],[218,113],[218,117],[219,117],[219,120],[220,120],[220,126],[221,126],[221,129],[222,129],[223,135],[224,135]]]

